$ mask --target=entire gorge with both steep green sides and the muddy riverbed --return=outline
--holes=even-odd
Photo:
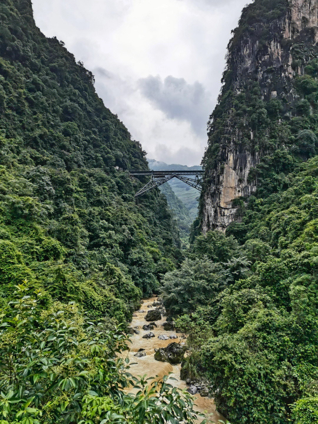
[[[318,0],[243,9],[197,217],[135,201],[146,152],[31,1],[0,20],[1,424],[318,422]]]

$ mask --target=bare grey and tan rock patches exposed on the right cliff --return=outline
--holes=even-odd
[[[293,117],[295,104],[299,100],[293,81],[297,75],[304,74],[310,54],[309,59],[295,66],[293,63],[297,57],[290,45],[297,37],[304,42],[305,48],[317,43],[318,0],[289,0],[286,3],[285,14],[271,22],[263,47],[260,47],[260,37],[257,35],[262,31],[261,23],[254,23],[253,33],[249,32],[233,47],[229,70],[233,92],[242,92],[247,81],[257,81],[260,98],[266,102],[271,99],[287,101],[291,108],[286,114]],[[213,128],[209,135],[213,143],[219,145],[219,152],[213,165],[206,169],[204,177],[208,181],[202,190],[203,206],[200,211],[204,233],[209,229],[225,231],[231,222],[238,219],[239,206],[235,199],[248,198],[256,191],[257,176],[249,178],[249,171],[270,154],[258,144],[259,136],[252,127],[242,131],[234,124],[231,108],[232,104],[229,104],[222,135],[213,138]],[[249,147],[246,146],[246,137],[249,138]],[[212,153],[208,152],[206,157],[211,159]]]

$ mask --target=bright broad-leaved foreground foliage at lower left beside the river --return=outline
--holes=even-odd
[[[127,340],[108,324],[89,322],[74,302],[43,310],[41,293],[17,286],[1,314],[1,423],[194,423],[187,393],[128,373]]]

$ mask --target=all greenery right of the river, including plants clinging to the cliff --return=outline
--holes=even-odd
[[[210,177],[222,173],[234,139],[242,155],[261,158],[249,173],[257,192],[235,200],[237,220],[226,234],[198,235],[200,212],[188,257],[163,279],[163,301],[178,325],[191,338],[205,325],[200,340],[188,344],[185,377],[210,379],[217,410],[235,424],[315,423],[318,416],[318,49],[312,32],[280,40],[282,54],[290,51],[298,67],[293,81],[282,81],[278,68],[268,68],[260,81],[253,72],[235,75],[242,44],[259,49],[257,60],[267,54],[286,6],[285,0],[255,0],[244,8],[202,161],[205,192]],[[273,86],[277,98],[268,91]]]

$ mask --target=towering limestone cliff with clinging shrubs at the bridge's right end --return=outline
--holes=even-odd
[[[239,219],[239,199],[246,201],[257,190],[251,170],[273,150],[268,142],[273,125],[277,144],[290,148],[286,122],[301,111],[295,77],[315,57],[317,41],[318,0],[255,0],[243,9],[208,124],[200,211],[204,232],[224,231]]]

